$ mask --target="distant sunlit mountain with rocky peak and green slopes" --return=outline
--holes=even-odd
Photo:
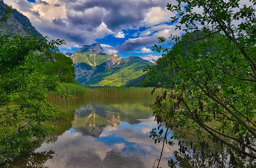
[[[152,65],[151,62],[133,55],[128,58],[121,58],[115,53],[108,55],[100,43],[83,45],[74,53],[66,55],[73,60],[76,81],[89,87],[140,87],[145,76],[142,69]]]

